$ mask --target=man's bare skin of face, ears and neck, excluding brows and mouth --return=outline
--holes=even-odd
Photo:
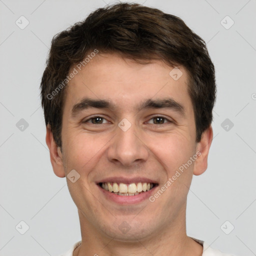
[[[196,142],[187,72],[179,67],[183,74],[175,81],[169,75],[172,68],[162,60],[141,64],[118,54],[98,53],[69,82],[62,148],[56,145],[50,126],[46,143],[58,177],[72,169],[80,175],[74,183],[66,179],[82,237],[73,255],[202,254],[202,245],[186,235],[186,197],[192,175],[207,168],[212,128]],[[168,108],[137,111],[139,102],[166,95],[183,106],[184,114]],[[111,100],[117,108],[88,108],[72,116],[73,105],[83,97]],[[103,123],[82,122],[92,115],[103,117]],[[166,118],[164,123],[157,123],[155,115]],[[131,124],[127,131],[117,125],[123,118]],[[156,180],[160,188],[197,151],[196,160],[154,202],[120,205],[105,198],[95,183],[110,176],[140,176]],[[130,227],[126,233],[118,228],[123,221]]]

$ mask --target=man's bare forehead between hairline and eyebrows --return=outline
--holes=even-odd
[[[182,66],[173,68],[162,60],[142,64],[119,54],[98,53],[78,67],[70,68],[77,71],[67,86],[66,103],[70,105],[86,96],[111,100],[119,109],[127,110],[127,104],[132,106],[143,98],[168,96],[185,108],[191,106],[188,74]]]

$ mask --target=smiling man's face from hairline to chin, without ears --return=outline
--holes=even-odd
[[[187,72],[180,67],[182,75],[174,80],[172,69],[161,60],[140,64],[97,54],[69,82],[59,154],[63,173],[74,169],[80,175],[67,184],[85,230],[119,240],[148,239],[184,220],[195,163],[188,160],[198,143]],[[88,98],[109,105],[91,107]],[[187,162],[192,163],[167,185]],[[140,182],[153,187],[118,195],[101,187],[107,182],[121,191],[141,191]]]

